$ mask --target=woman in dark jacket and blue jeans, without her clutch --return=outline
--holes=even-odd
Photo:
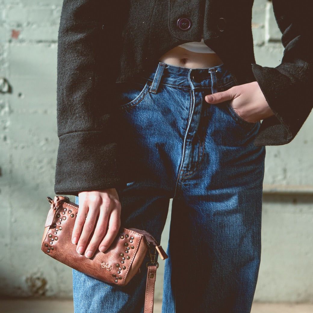
[[[160,240],[173,198],[163,312],[250,312],[264,145],[291,141],[312,107],[308,2],[273,1],[275,69],[255,64],[252,4],[64,0],[55,191],[78,195],[87,258],[120,225]],[[75,312],[140,312],[145,276],[121,289],[74,271]]]

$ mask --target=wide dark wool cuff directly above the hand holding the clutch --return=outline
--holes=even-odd
[[[56,194],[115,188],[120,184],[116,143],[100,131],[73,132],[59,137],[55,172]]]

